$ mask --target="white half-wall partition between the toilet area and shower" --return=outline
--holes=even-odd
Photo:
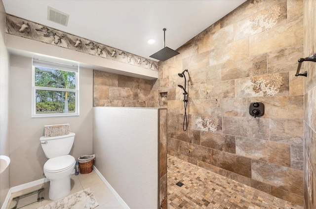
[[[131,209],[158,208],[158,109],[94,107],[95,166]]]

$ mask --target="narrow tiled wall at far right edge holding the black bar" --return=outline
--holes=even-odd
[[[304,58],[316,53],[316,0],[304,0]],[[304,62],[304,209],[316,207],[316,62]]]

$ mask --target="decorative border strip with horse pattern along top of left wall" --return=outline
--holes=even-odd
[[[6,33],[158,71],[158,63],[79,36],[6,15]]]

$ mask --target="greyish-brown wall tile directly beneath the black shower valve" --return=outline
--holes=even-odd
[[[223,133],[258,139],[269,139],[269,119],[223,117]]]

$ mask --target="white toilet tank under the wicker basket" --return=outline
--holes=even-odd
[[[40,137],[40,145],[47,158],[59,157],[69,154],[73,147],[75,133],[62,136]]]

